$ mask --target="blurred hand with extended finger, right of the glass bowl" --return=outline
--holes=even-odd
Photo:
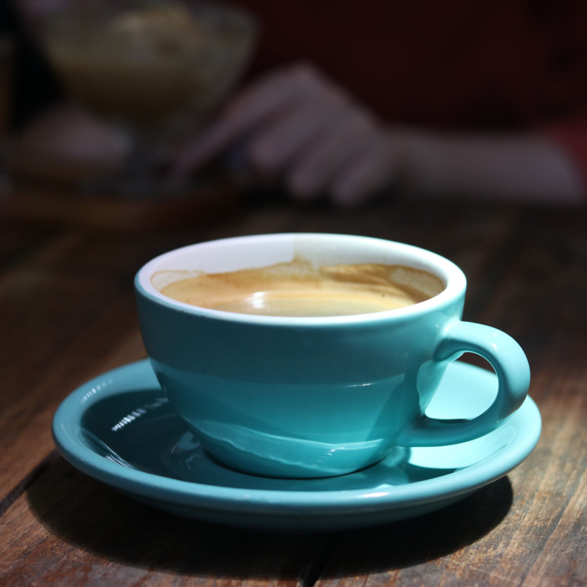
[[[235,143],[265,177],[281,176],[294,197],[328,193],[359,204],[394,179],[390,137],[369,112],[308,65],[279,70],[245,89],[181,151],[184,176]]]

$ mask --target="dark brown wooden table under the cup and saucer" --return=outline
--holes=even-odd
[[[172,517],[56,453],[76,386],[145,356],[132,278],[148,259],[232,235],[325,231],[409,242],[469,279],[465,319],[528,354],[544,427],[507,477],[442,511],[340,534],[269,535]],[[0,585],[587,584],[587,212],[261,205],[191,230],[0,228]]]

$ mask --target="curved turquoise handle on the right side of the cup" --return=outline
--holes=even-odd
[[[442,333],[433,360],[455,360],[464,352],[481,355],[494,368],[498,380],[494,402],[471,420],[439,420],[422,415],[400,434],[396,444],[442,446],[473,440],[494,430],[522,405],[530,384],[530,367],[524,351],[511,336],[491,326],[456,320]]]

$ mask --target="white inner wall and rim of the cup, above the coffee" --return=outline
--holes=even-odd
[[[154,258],[140,269],[137,281],[144,292],[166,305],[180,306],[191,311],[227,314],[218,310],[195,308],[161,294],[168,284],[201,273],[224,273],[240,269],[254,269],[288,263],[295,259],[312,262],[316,267],[338,264],[376,263],[406,265],[437,276],[444,284],[444,291],[427,301],[390,312],[406,313],[417,306],[441,303],[464,291],[466,280],[463,272],[451,261],[418,247],[383,239],[338,234],[268,234],[251,237],[227,238],[203,242],[170,251]],[[380,312],[380,314],[388,312]],[[232,314],[232,317],[235,315]],[[373,315],[362,315],[373,316]],[[276,316],[248,316],[249,319],[287,321],[290,318]],[[324,321],[346,318],[305,318]],[[291,318],[294,319],[294,318]],[[299,318],[295,318],[299,321]]]

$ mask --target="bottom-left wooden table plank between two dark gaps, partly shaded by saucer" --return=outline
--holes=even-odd
[[[60,459],[0,519],[2,585],[303,585],[327,537],[227,530],[163,514]]]

